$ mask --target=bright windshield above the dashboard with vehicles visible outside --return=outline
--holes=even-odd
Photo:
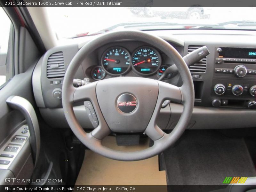
[[[254,7],[47,7],[59,38],[111,30],[256,29]]]

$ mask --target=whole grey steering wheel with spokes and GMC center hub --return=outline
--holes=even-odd
[[[75,73],[84,58],[101,45],[124,39],[147,42],[164,52],[179,69],[182,86],[143,77],[115,77],[78,88],[73,86]],[[183,104],[180,120],[169,134],[156,125],[164,100]],[[93,107],[98,118],[98,126],[90,133],[83,130],[74,114],[73,104],[81,101],[84,101],[85,106]],[[192,115],[194,85],[179,52],[160,37],[135,30],[109,32],[85,44],[71,60],[63,80],[62,105],[70,128],[85,146],[111,159],[136,161],[161,153],[180,138]],[[140,151],[113,150],[101,144],[101,140],[111,132],[145,132],[154,144]]]

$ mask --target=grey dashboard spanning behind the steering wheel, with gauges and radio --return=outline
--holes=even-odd
[[[219,34],[214,30],[199,31],[148,32],[164,38],[182,56],[204,45],[210,51],[207,57],[189,67],[195,108],[188,129],[255,127],[256,36],[234,31]],[[52,127],[68,128],[61,104],[61,86],[68,64],[87,41],[54,47],[36,65],[32,81],[36,104]],[[173,64],[172,58],[154,45],[122,40],[92,50],[81,62],[76,78],[87,83],[117,76],[158,79]],[[179,73],[170,74],[164,81],[182,85]],[[74,111],[82,127],[93,128],[83,103],[77,103]],[[181,112],[182,106],[175,103],[161,109],[158,126],[172,129]]]

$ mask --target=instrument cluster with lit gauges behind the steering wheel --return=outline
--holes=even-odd
[[[92,68],[91,75],[93,79],[101,80],[106,74],[122,76],[132,70],[139,76],[161,76],[165,70],[161,64],[160,53],[151,46],[140,46],[132,53],[122,46],[112,46],[103,52],[100,66]]]

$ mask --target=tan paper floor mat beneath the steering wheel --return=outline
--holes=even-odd
[[[107,137],[103,145],[121,151],[136,151],[147,148],[148,142],[138,146],[117,146],[115,137]],[[165,171],[159,171],[158,156],[124,162],[86,150],[76,185],[166,185],[166,175]]]

